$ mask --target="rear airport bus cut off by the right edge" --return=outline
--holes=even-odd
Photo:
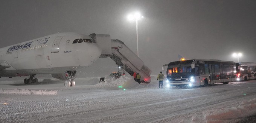
[[[256,63],[240,62],[236,63],[237,81],[256,79]]]

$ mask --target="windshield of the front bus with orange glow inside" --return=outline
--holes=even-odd
[[[168,66],[168,75],[188,75],[192,74],[191,64],[177,64]]]

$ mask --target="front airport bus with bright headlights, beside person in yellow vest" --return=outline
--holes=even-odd
[[[170,62],[163,65],[168,86],[203,86],[206,84],[235,81],[235,62],[221,60],[192,59]]]

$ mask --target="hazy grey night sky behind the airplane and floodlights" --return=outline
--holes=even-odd
[[[59,32],[110,34],[136,53],[136,23],[126,16],[138,10],[139,57],[159,73],[162,65],[186,59],[256,62],[256,0],[1,0],[0,47]],[[105,63],[110,66],[104,66]],[[84,70],[116,70],[100,58]],[[100,73],[101,75],[102,73]]]

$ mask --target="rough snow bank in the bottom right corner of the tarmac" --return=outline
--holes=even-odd
[[[228,108],[217,108],[214,110],[207,110],[204,112],[204,118],[207,122],[222,122],[227,119],[236,119],[237,117],[245,117],[246,114],[255,114],[256,98],[249,101],[237,102],[230,105]]]

